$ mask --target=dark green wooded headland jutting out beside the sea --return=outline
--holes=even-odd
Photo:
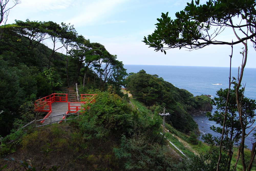
[[[163,112],[162,109],[165,107],[166,112],[170,113],[166,121],[176,129],[186,133],[197,129],[189,112],[202,107],[204,102],[201,102],[199,98],[194,98],[187,90],[176,88],[162,78],[146,74],[144,70],[129,75],[126,78],[126,86],[133,97],[146,106],[151,106],[155,113]]]

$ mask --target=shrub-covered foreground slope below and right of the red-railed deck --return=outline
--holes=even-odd
[[[15,146],[5,146],[5,151],[2,148],[2,155],[16,151],[8,156],[29,159],[37,168],[44,158],[40,151],[49,148],[53,151],[44,161],[47,168],[54,165],[60,166],[60,170],[182,170],[182,157],[159,134],[160,116],[151,114],[138,112],[116,94],[102,92],[79,120],[30,129]],[[9,170],[19,168],[15,162],[7,163]]]

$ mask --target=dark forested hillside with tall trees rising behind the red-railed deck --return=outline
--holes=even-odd
[[[118,93],[126,75],[123,63],[104,45],[78,36],[72,25],[52,21],[16,20],[0,26],[0,63],[2,136],[26,113],[24,105],[39,97],[63,92],[75,83],[100,90],[113,85]]]

